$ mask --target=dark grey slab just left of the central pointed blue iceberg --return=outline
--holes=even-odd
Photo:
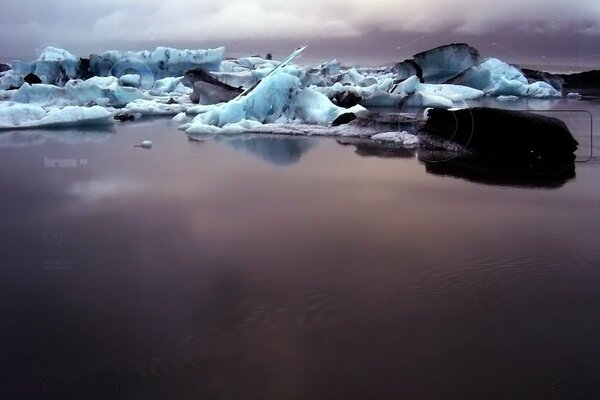
[[[243,92],[242,89],[229,86],[199,68],[186,72],[184,84],[194,89],[190,100],[196,104],[228,102]]]

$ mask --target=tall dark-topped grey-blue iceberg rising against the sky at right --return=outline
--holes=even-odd
[[[479,63],[479,51],[465,43],[452,43],[413,56],[425,83],[444,83]]]

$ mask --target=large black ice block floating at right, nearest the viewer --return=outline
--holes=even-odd
[[[524,111],[432,109],[421,132],[458,143],[477,154],[510,157],[514,165],[542,169],[575,160],[577,141],[557,118]]]

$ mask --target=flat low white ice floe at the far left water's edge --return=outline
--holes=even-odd
[[[43,108],[30,104],[0,107],[0,129],[108,125],[114,123],[112,112],[100,106]]]

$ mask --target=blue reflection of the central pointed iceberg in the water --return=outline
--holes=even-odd
[[[303,137],[247,134],[234,138],[219,137],[218,141],[278,166],[297,163],[313,145],[310,139]]]

